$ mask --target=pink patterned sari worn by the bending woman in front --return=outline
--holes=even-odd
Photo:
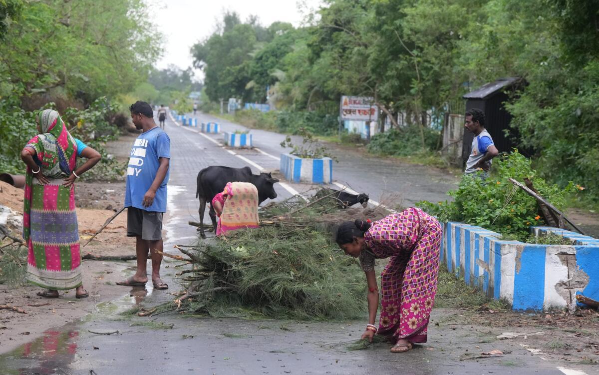
[[[426,342],[426,327],[437,293],[441,225],[419,208],[391,214],[364,235],[377,258],[391,257],[381,274],[377,334]]]

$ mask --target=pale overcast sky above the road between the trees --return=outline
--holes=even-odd
[[[320,0],[150,0],[156,28],[165,37],[164,53],[156,67],[177,65],[186,69],[192,65],[189,49],[210,36],[225,10],[237,11],[241,20],[257,15],[264,26],[275,21],[299,26],[307,11],[317,9]],[[196,79],[202,78],[195,71]]]

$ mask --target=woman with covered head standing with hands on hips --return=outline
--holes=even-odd
[[[39,134],[21,152],[27,165],[23,199],[27,279],[48,289],[38,292],[40,297],[57,298],[58,291],[77,289],[75,297],[86,298],[74,183],[101,156],[69,134],[57,111],[40,111],[37,129]],[[77,156],[87,158],[78,168]]]

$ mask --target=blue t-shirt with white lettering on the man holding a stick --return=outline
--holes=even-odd
[[[171,158],[171,139],[167,133],[156,126],[143,132],[131,147],[129,165],[127,167],[127,183],[125,187],[125,207],[135,207],[153,212],[167,211],[167,183],[170,171],[156,190],[154,202],[144,207],[144,195],[156,177],[159,158]],[[169,168],[170,169],[170,168]]]

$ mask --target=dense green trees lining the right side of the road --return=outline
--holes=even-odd
[[[589,207],[599,197],[598,10],[583,0],[332,0],[298,28],[225,13],[192,49],[205,73],[202,110],[268,102],[274,114],[238,110],[234,120],[341,140],[340,96],[370,96],[386,123],[368,152],[434,164],[445,115],[464,112],[464,93],[523,77],[507,105],[518,147],[548,182],[588,186],[578,199]]]

